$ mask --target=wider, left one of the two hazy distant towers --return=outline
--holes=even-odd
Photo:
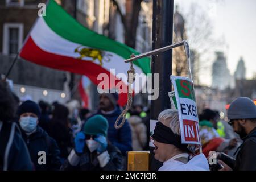
[[[216,60],[212,65],[212,87],[225,89],[232,83],[232,76],[226,65],[226,57],[223,52],[216,52]]]

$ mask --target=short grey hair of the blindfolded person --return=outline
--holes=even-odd
[[[177,110],[174,109],[166,109],[162,111],[158,115],[158,121],[163,123],[163,125],[170,127],[172,132],[176,135],[181,135],[180,133],[180,121],[179,121],[179,113]],[[196,145],[195,144],[188,144],[188,150],[195,154]]]

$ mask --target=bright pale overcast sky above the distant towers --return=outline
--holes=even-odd
[[[197,3],[204,9],[214,27],[214,38],[224,40],[225,44],[216,51],[224,51],[230,72],[236,70],[238,60],[243,57],[246,78],[256,72],[256,1],[255,0],[175,0],[180,11],[187,12],[191,3]],[[182,13],[182,12],[181,12]],[[214,60],[214,55],[209,60]],[[210,84],[210,68],[201,72],[200,81]],[[203,78],[202,78],[203,77]]]

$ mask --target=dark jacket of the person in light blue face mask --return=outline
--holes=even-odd
[[[28,151],[30,152],[31,160],[34,163],[36,171],[53,171],[60,169],[59,147],[56,141],[50,137],[46,131],[38,126],[35,133],[29,136],[23,133],[23,138],[27,143]],[[46,164],[39,164],[38,159],[43,156],[42,154],[39,155],[39,151],[46,152]]]

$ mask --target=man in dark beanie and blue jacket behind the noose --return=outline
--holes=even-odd
[[[131,142],[131,128],[126,120],[121,129],[115,129],[115,121],[121,114],[121,109],[117,104],[117,101],[117,93],[100,94],[100,109],[97,111],[97,114],[103,115],[108,119],[108,139],[114,146],[119,148],[123,155],[126,155],[126,151],[133,150]]]

